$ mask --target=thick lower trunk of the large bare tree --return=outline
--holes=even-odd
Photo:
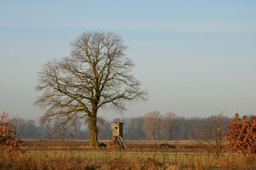
[[[98,146],[98,128],[97,118],[89,117],[89,129],[90,129],[90,147],[97,148]]]

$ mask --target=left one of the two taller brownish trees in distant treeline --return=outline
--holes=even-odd
[[[159,134],[159,111],[150,111],[144,116],[143,129],[148,139],[152,141],[157,138]]]

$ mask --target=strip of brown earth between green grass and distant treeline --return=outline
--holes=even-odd
[[[99,143],[108,145],[109,140],[100,140]],[[196,141],[125,141],[127,151],[156,151],[156,152],[202,152],[209,149],[206,146],[200,145]],[[166,144],[161,146],[161,144]],[[168,147],[169,145],[169,147]],[[206,148],[205,148],[206,147]],[[88,140],[26,140],[22,143],[23,150],[102,150],[111,151],[116,148],[90,148]],[[123,150],[119,148],[118,150]]]

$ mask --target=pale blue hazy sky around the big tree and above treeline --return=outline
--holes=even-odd
[[[256,112],[256,1],[0,1],[0,111],[38,118],[37,75],[83,31],[114,31],[149,92],[148,111]],[[122,117],[112,111],[104,118]]]

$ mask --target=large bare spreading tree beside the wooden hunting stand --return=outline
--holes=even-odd
[[[126,102],[146,99],[147,92],[131,74],[134,64],[126,57],[127,46],[113,32],[84,32],[71,43],[70,57],[44,64],[35,104],[45,109],[42,122],[61,119],[61,124],[88,118],[90,146],[97,146],[97,113],[100,108],[125,110]]]

